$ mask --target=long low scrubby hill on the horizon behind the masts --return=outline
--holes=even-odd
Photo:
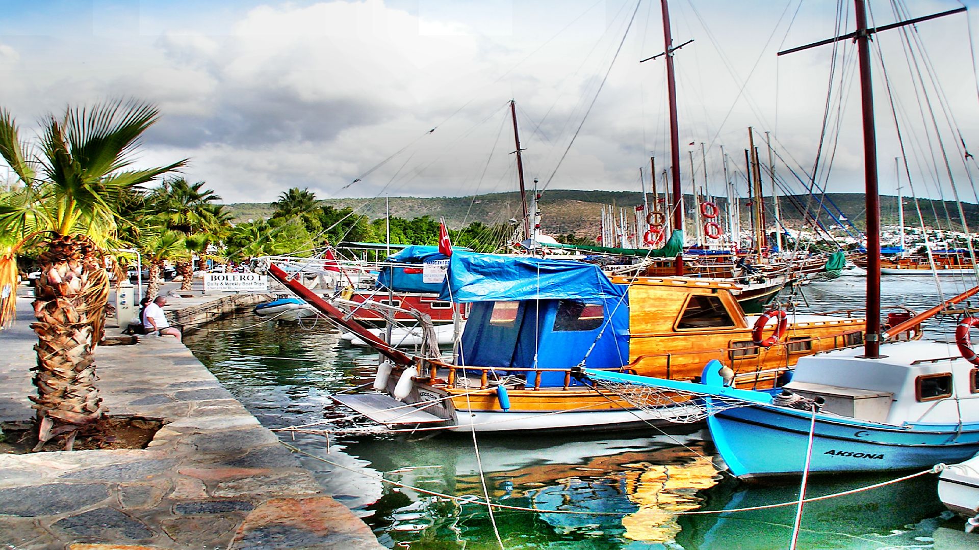
[[[826,206],[832,211],[835,212],[836,210],[831,205],[837,206],[855,225],[863,229],[865,209],[862,194],[832,193],[825,195],[823,199]],[[799,227],[803,222],[802,210],[807,204],[815,210],[818,201],[818,197],[802,195],[779,197],[782,222],[789,227]],[[689,206],[692,204],[689,195],[685,197],[685,202],[688,205],[687,210],[692,212]],[[724,198],[719,197],[715,202],[722,209],[726,206]],[[336,208],[350,207],[371,219],[383,218],[385,215],[383,198],[326,199],[320,203]],[[491,193],[475,197],[392,197],[390,204],[392,216],[413,218],[428,215],[435,219],[444,217],[446,223],[452,228],[459,228],[473,221],[481,221],[486,224],[504,223],[511,218],[520,218],[522,211],[520,194],[517,192]],[[545,233],[551,235],[573,233],[578,237],[593,238],[599,231],[602,206],[612,205],[631,208],[640,204],[642,204],[642,195],[637,192],[555,189],[547,191],[540,199],[542,212],[540,225]],[[882,223],[884,225],[896,225],[898,223],[897,197],[882,196],[880,204]],[[767,212],[772,211],[770,197],[764,199],[764,205]],[[926,226],[948,228],[947,215],[953,220],[954,227],[958,228],[960,225],[957,206],[953,202],[943,204],[941,201],[919,200],[918,206]],[[274,210],[270,203],[237,203],[227,205],[227,207],[234,215],[235,223],[249,219],[267,218],[272,215]],[[742,199],[740,201],[742,220],[749,219],[749,208],[747,201]],[[979,229],[979,205],[963,204],[962,209],[965,211],[969,227],[973,230]],[[935,222],[936,214],[937,218],[941,220],[939,223]],[[835,223],[825,212],[819,215],[819,221],[825,225]],[[921,223],[917,216],[914,201],[907,197],[905,198],[905,223],[909,227],[917,227]]]

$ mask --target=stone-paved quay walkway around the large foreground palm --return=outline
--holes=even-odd
[[[17,305],[0,331],[0,421],[32,412],[30,299]],[[110,414],[167,424],[146,449],[0,455],[3,547],[384,548],[176,339],[96,358]]]

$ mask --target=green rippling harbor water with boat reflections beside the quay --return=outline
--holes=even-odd
[[[801,310],[859,308],[862,278],[801,290]],[[966,287],[958,277],[885,277],[885,304],[923,310]],[[808,303],[808,307],[807,307]],[[935,318],[927,338],[948,339]],[[333,405],[331,393],[373,380],[375,353],[342,342],[325,321],[209,324],[185,339],[221,383],[279,432],[328,492],[391,548],[787,548],[796,506],[720,513],[798,499],[797,482],[749,485],[715,465],[701,426],[598,435],[350,435],[371,423]],[[950,344],[949,355],[956,355]],[[812,479],[815,497],[898,475]],[[934,476],[809,503],[799,548],[953,548],[962,523],[944,510]],[[485,495],[513,509],[490,514]],[[691,514],[699,512],[698,514]],[[706,512],[706,513],[705,513]],[[499,541],[497,541],[497,536]],[[951,545],[950,545],[951,544]]]

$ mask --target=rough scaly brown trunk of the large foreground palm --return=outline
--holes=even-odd
[[[104,412],[95,388],[95,347],[105,326],[109,277],[87,237],[55,238],[40,256],[42,276],[34,290],[30,327],[37,334],[37,367],[29,395],[37,410],[39,450],[55,435],[91,424]]]

